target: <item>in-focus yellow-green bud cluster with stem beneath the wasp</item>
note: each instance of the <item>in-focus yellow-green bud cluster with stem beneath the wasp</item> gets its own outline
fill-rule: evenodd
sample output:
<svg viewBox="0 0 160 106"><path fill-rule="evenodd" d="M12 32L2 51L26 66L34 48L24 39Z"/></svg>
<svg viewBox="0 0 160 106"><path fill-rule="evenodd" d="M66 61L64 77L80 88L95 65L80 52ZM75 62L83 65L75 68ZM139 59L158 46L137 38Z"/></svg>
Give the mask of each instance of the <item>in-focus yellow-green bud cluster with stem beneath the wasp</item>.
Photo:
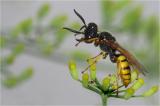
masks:
<svg viewBox="0 0 160 106"><path fill-rule="evenodd" d="M82 83L83 87L91 91L96 92L102 98L102 105L106 106L107 99L110 97L120 98L128 100L132 97L148 97L152 96L158 91L158 86L151 87L148 91L140 95L136 95L135 92L144 85L144 80L138 77L137 70L131 72L131 83L128 87L125 87L120 79L116 75L107 75L102 81L99 81L96 76L96 63L88 61L90 71L82 73L79 78L76 63L74 61L69 62L69 70L74 80ZM92 65L91 65L92 64Z"/></svg>

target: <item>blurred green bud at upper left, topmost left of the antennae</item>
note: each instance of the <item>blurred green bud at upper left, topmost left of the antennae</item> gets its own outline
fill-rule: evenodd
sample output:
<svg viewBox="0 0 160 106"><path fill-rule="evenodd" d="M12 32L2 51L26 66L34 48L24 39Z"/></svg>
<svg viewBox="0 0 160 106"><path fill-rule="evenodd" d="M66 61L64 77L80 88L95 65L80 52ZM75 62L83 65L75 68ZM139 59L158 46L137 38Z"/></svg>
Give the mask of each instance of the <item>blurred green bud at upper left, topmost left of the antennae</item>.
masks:
<svg viewBox="0 0 160 106"><path fill-rule="evenodd" d="M38 13L37 13L38 19L43 19L45 16L47 16L50 11L50 8L51 8L50 4L48 3L43 4L38 10Z"/></svg>

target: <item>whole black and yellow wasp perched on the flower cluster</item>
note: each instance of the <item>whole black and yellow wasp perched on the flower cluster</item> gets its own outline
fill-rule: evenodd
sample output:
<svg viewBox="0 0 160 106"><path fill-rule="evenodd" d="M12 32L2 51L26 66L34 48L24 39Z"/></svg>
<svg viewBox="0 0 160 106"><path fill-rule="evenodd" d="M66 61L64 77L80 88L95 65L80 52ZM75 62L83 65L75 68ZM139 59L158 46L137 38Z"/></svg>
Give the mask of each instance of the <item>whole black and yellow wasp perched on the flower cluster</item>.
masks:
<svg viewBox="0 0 160 106"><path fill-rule="evenodd" d="M67 27L64 27L64 29L75 33L75 36L79 34L84 35L84 37L76 39L78 43L75 46L78 46L81 42L87 44L92 43L95 47L99 47L102 50L100 54L90 59L96 59L99 56L102 56L102 58L105 59L109 55L111 62L117 64L117 74L120 76L125 87L131 82L131 68L136 69L138 70L138 73L145 75L147 72L145 67L129 51L124 49L111 33L105 31L99 32L97 24L91 22L87 25L84 18L75 9L74 13L81 19L84 25L79 30ZM98 59L100 60L100 58ZM93 64L99 60L96 59ZM91 65L89 65L83 72L88 70Z"/></svg>

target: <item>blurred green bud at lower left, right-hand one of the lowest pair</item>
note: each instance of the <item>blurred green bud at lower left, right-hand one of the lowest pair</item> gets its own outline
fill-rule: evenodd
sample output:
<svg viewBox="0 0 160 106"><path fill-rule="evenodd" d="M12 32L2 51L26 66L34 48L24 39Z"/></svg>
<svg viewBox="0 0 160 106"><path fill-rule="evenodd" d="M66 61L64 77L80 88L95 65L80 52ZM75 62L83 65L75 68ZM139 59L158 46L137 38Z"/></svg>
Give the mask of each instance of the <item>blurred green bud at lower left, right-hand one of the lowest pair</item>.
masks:
<svg viewBox="0 0 160 106"><path fill-rule="evenodd" d="M29 79L33 75L33 68L28 67L17 77L18 81L24 81Z"/></svg>

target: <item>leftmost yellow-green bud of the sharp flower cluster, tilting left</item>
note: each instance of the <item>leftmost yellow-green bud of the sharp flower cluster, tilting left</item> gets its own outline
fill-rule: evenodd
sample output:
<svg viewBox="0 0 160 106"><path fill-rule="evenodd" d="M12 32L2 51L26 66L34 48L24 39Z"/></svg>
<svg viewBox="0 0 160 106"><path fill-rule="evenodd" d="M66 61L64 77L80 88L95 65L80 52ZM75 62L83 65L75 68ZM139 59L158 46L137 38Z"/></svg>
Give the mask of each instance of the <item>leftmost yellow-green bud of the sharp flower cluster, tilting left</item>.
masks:
<svg viewBox="0 0 160 106"><path fill-rule="evenodd" d="M71 74L72 78L74 80L78 80L78 71L76 68L76 63L74 61L69 62L69 70L70 70L70 74Z"/></svg>

